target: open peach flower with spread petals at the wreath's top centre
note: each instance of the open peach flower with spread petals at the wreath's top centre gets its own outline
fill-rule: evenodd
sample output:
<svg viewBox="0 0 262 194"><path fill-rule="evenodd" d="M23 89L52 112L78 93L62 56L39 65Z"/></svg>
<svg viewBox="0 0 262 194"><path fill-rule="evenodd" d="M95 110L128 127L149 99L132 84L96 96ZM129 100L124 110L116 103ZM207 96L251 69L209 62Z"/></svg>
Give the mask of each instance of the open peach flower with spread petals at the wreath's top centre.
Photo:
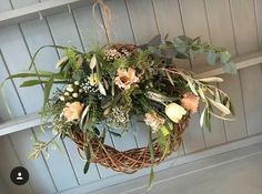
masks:
<svg viewBox="0 0 262 194"><path fill-rule="evenodd" d="M122 88L124 90L130 89L130 85L132 83L137 83L139 81L139 78L135 76L135 70L132 68L129 68L129 70L118 70L118 76L115 78L115 84L119 88Z"/></svg>

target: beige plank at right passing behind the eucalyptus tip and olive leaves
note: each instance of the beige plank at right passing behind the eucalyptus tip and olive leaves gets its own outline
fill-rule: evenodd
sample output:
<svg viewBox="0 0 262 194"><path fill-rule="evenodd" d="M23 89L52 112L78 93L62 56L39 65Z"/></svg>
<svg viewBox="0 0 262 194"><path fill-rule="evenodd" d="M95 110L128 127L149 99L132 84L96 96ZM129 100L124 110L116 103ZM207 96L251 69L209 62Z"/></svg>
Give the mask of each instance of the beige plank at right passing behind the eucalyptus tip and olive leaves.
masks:
<svg viewBox="0 0 262 194"><path fill-rule="evenodd" d="M206 13L212 43L214 45L223 45L232 55L235 55L236 51L229 0L206 0ZM230 95L234 102L236 112L234 122L224 122L226 140L233 141L246 136L240 79L239 74L223 74L221 76L224 79L224 82L220 84L220 88Z"/></svg>

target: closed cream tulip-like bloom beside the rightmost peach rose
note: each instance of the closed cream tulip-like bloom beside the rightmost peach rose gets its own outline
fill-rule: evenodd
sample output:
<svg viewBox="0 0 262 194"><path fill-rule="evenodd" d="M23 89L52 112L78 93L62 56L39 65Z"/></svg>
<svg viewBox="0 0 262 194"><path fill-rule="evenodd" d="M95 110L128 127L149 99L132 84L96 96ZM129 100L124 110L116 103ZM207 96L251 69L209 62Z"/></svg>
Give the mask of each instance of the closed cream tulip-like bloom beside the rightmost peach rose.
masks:
<svg viewBox="0 0 262 194"><path fill-rule="evenodd" d="M165 106L165 114L171 119L174 123L179 123L179 121L187 114L184 108L177 103L170 103Z"/></svg>

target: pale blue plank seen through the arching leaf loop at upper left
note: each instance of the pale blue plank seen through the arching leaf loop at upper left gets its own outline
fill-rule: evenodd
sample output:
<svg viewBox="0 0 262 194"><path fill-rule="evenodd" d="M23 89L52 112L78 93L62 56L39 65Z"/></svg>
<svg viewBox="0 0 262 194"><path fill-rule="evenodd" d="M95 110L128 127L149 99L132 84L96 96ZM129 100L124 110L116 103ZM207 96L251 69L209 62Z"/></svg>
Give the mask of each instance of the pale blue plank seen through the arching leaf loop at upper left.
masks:
<svg viewBox="0 0 262 194"><path fill-rule="evenodd" d="M22 23L21 27L23 29L23 33L31 53L34 53L41 45L53 44L49 29L44 21L33 20ZM53 71L57 60L58 55L56 51L53 49L49 49L41 52L36 62L39 69ZM95 166L91 165L89 171L89 176L88 177L84 176L83 174L84 164L79 157L75 157L77 153L75 146L71 144L69 141L66 141L66 145L79 182L83 184L98 180L99 176ZM68 163L66 159L64 162ZM59 172L52 172L52 173L59 173Z"/></svg>

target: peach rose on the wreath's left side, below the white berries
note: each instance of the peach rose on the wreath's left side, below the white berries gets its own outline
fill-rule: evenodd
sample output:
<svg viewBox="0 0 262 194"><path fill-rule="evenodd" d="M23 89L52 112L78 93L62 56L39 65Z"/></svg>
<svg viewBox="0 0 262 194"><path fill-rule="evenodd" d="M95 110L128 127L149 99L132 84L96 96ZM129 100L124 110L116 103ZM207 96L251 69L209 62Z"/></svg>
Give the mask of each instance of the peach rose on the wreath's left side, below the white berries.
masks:
<svg viewBox="0 0 262 194"><path fill-rule="evenodd" d="M80 102L69 103L67 108L63 109L63 116L68 122L79 120L83 110L83 104Z"/></svg>

